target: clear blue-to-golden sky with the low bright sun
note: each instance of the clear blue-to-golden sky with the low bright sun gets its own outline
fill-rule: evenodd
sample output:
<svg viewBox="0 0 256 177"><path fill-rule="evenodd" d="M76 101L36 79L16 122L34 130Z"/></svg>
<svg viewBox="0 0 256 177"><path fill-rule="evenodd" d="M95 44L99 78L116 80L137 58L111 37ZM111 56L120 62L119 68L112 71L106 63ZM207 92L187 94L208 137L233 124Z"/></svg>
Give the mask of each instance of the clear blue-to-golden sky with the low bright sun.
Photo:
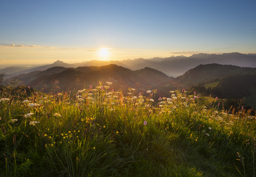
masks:
<svg viewBox="0 0 256 177"><path fill-rule="evenodd" d="M0 2L0 66L256 53L256 1Z"/></svg>

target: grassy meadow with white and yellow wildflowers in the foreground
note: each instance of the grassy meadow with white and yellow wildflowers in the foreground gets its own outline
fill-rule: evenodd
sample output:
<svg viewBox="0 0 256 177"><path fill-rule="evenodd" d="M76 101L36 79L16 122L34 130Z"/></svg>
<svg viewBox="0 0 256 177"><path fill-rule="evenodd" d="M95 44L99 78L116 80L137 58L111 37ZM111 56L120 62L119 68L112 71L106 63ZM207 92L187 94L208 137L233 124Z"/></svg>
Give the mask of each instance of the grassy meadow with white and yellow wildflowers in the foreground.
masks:
<svg viewBox="0 0 256 177"><path fill-rule="evenodd" d="M1 176L255 176L255 115L222 100L100 83L0 89Z"/></svg>

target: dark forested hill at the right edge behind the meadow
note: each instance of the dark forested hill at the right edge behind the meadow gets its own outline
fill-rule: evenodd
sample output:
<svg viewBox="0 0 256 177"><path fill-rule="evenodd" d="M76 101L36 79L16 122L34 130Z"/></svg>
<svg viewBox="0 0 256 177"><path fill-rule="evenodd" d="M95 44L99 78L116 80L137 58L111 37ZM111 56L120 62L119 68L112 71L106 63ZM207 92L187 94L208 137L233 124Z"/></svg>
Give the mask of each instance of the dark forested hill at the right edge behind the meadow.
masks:
<svg viewBox="0 0 256 177"><path fill-rule="evenodd" d="M172 85L186 88L201 95L218 96L227 99L226 109L244 99L250 107L256 108L256 68L231 65L199 65L174 79Z"/></svg>

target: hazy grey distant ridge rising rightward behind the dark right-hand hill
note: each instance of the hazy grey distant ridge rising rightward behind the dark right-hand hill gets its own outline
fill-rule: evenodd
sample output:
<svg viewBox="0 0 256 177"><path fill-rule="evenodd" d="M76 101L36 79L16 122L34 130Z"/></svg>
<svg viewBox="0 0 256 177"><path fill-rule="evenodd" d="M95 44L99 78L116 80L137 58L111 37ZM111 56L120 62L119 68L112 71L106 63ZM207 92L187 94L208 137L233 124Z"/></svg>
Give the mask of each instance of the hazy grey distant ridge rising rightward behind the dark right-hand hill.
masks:
<svg viewBox="0 0 256 177"><path fill-rule="evenodd" d="M130 69L140 69L144 67L154 68L172 77L178 77L189 69L198 65L219 63L221 65L235 65L240 67L256 67L256 55L241 53L224 54L194 54L190 57L170 57L158 60L145 60L137 65L130 66Z"/></svg>

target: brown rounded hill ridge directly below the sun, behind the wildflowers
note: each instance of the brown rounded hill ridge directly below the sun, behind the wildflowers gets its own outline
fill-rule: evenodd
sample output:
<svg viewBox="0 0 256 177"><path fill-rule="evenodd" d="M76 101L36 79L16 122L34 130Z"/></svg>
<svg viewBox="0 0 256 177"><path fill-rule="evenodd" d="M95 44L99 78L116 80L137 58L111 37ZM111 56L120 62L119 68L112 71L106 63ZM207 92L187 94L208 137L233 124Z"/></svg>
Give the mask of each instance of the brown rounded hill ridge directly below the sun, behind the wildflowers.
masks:
<svg viewBox="0 0 256 177"><path fill-rule="evenodd" d="M103 85L112 82L111 88L114 89L134 87L138 90L146 90L148 86L156 87L170 80L170 77L155 69L144 68L132 71L117 65L75 69L54 67L37 73L34 77L31 77L31 74L21 77L21 81L27 85L38 90L44 88L44 91L51 91L54 86L60 87L61 90L84 89L90 85L98 85L99 82Z"/></svg>

